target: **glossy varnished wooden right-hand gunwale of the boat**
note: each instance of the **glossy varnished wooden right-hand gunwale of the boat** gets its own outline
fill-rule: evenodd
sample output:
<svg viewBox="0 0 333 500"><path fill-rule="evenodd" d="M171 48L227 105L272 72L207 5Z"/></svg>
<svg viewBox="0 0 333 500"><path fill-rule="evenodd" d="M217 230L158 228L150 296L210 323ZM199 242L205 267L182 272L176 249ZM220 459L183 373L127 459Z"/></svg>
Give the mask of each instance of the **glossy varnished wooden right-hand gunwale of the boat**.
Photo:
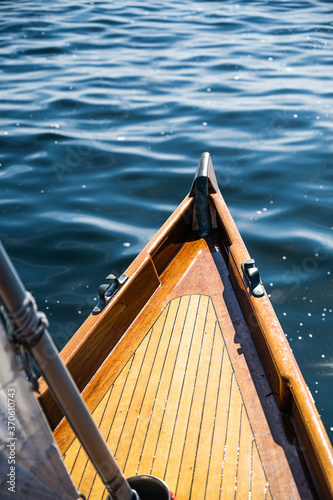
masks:
<svg viewBox="0 0 333 500"><path fill-rule="evenodd" d="M241 264L250 255L223 196L212 193L210 198L218 222L232 242L227 249L229 276L271 386L274 376L269 376L269 370L274 368L278 376L278 386L272 387L277 404L292 419L321 497L333 498L333 448L326 429L266 291L258 298L249 289Z"/></svg>

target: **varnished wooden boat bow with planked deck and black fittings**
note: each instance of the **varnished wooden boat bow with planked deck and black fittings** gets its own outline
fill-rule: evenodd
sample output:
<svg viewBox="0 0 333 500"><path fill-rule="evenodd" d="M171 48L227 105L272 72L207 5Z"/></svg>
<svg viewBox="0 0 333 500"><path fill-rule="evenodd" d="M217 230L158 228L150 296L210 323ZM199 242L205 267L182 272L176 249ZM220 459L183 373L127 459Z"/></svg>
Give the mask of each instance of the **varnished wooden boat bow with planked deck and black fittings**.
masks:
<svg viewBox="0 0 333 500"><path fill-rule="evenodd" d="M333 498L331 443L208 153L125 275L61 353L125 476L178 500ZM40 402L78 490L105 499L43 381Z"/></svg>

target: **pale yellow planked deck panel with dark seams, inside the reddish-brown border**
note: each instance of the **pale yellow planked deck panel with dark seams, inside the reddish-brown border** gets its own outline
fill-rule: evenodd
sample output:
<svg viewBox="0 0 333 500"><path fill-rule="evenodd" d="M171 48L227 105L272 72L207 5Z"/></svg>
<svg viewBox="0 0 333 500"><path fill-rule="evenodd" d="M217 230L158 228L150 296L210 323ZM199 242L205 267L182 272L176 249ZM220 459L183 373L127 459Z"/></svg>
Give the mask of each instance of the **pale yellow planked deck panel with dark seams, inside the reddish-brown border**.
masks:
<svg viewBox="0 0 333 500"><path fill-rule="evenodd" d="M126 476L153 474L179 498L271 498L212 300L172 300L93 415ZM101 483L77 439L65 461L79 490ZM237 482L238 477L247 481Z"/></svg>

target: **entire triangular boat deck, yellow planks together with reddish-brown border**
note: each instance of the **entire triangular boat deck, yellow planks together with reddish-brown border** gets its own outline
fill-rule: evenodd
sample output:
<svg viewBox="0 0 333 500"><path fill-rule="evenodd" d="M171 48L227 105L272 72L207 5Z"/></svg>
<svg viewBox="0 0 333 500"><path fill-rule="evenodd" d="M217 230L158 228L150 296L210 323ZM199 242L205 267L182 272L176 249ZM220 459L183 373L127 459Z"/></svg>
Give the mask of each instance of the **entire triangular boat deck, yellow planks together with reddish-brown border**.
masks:
<svg viewBox="0 0 333 500"><path fill-rule="evenodd" d="M184 244L83 396L125 475L152 473L178 500L313 498L213 257L204 240ZM55 436L78 489L105 498L65 420Z"/></svg>

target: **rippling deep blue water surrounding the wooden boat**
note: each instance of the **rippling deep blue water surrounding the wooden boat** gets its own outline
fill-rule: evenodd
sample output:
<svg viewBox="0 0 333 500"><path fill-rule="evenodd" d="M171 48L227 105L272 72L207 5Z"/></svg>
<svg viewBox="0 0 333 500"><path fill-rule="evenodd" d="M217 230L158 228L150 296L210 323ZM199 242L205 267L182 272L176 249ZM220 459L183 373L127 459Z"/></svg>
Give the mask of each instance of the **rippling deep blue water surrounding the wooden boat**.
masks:
<svg viewBox="0 0 333 500"><path fill-rule="evenodd" d="M0 235L59 348L210 151L333 437L332 20L323 0L2 0Z"/></svg>

